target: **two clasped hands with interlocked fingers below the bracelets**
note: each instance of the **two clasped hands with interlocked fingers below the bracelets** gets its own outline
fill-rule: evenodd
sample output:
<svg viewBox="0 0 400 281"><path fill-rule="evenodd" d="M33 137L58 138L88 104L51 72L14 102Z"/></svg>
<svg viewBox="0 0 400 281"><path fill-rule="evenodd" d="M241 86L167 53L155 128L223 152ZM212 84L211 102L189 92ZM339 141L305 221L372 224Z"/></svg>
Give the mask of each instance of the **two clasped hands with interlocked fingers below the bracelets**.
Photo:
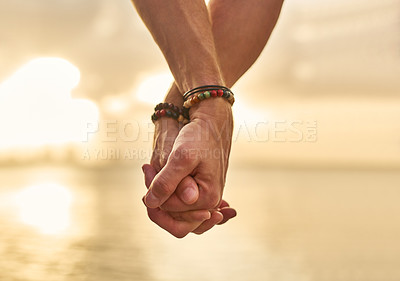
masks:
<svg viewBox="0 0 400 281"><path fill-rule="evenodd" d="M222 200L232 142L230 105L205 100L191 109L190 119L182 128L171 118L156 121L151 162L143 166L148 216L178 238L236 216Z"/></svg>

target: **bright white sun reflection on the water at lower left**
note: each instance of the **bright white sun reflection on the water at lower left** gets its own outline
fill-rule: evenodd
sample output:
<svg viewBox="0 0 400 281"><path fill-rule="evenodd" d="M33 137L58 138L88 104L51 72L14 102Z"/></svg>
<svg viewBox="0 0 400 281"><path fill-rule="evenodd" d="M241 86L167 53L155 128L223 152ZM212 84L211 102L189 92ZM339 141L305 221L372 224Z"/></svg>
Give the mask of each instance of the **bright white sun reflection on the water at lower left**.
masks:
<svg viewBox="0 0 400 281"><path fill-rule="evenodd" d="M71 192L57 184L40 184L16 196L20 219L43 234L57 234L70 223Z"/></svg>

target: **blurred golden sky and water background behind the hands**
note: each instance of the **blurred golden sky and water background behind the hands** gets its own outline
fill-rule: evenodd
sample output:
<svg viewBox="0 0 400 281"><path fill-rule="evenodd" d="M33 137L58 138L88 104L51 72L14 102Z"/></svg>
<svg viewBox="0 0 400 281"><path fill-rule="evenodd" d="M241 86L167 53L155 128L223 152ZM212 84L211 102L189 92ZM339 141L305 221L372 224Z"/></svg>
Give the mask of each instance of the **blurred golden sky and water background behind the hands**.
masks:
<svg viewBox="0 0 400 281"><path fill-rule="evenodd" d="M141 165L172 76L130 1L0 2L0 280L399 280L400 2L285 1L183 240Z"/></svg>

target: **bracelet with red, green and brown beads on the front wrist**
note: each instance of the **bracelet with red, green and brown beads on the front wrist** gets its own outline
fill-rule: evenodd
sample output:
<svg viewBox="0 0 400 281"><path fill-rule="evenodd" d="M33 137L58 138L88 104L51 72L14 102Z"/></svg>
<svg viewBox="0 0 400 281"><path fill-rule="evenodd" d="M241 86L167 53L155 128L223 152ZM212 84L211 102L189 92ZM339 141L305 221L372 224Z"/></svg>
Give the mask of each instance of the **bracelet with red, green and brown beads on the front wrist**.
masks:
<svg viewBox="0 0 400 281"><path fill-rule="evenodd" d="M219 87L219 88L215 88ZM206 90L204 90L206 89ZM199 88L195 88L187 92L186 97L184 97L185 102L183 103L183 114L186 118L188 118L189 115L189 109L195 105L196 103L199 103L202 100L208 99L208 98L215 98L215 97L222 97L227 99L227 101L233 105L235 102L235 98L233 96L233 93L231 90L229 90L226 87L221 87L221 86L202 86Z"/></svg>

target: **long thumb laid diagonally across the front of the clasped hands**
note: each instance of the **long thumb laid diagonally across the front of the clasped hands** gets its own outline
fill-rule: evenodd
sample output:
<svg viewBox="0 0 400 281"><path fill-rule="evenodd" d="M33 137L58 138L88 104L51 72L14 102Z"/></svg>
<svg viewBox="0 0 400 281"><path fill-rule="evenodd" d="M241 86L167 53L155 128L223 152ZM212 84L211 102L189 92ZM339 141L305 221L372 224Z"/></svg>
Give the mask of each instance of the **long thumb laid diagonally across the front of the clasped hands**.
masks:
<svg viewBox="0 0 400 281"><path fill-rule="evenodd" d="M191 163L188 162L190 161L179 161L172 153L170 154L167 164L154 177L146 194L147 207L160 207L175 192L182 179L193 170Z"/></svg>

